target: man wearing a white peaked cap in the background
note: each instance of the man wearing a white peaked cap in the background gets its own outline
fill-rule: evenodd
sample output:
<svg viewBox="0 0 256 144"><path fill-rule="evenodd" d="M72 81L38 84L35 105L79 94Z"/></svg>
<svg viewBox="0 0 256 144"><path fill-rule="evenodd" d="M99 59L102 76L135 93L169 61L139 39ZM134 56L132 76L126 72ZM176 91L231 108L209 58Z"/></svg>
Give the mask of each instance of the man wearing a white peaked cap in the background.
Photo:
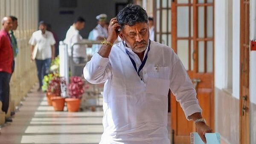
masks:
<svg viewBox="0 0 256 144"><path fill-rule="evenodd" d="M104 40L108 37L108 30L106 29L107 14L99 14L96 16L98 25L91 31L91 37L89 40ZM92 53L98 52L101 44L93 44Z"/></svg>

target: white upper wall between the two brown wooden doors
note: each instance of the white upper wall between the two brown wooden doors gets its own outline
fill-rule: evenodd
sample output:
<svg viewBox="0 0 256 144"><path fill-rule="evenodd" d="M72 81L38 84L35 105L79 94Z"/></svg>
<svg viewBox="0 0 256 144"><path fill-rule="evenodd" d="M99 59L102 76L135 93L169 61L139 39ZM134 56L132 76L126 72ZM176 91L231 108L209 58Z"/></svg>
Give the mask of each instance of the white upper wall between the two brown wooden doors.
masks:
<svg viewBox="0 0 256 144"><path fill-rule="evenodd" d="M215 0L215 87L218 89L227 89L228 85L228 63L227 46L230 46L228 40L232 40L232 95L239 99L239 63L240 63L240 0L231 1L233 5L232 22L228 17L228 4L226 0ZM232 26L232 33L227 31ZM231 35L230 35L231 34ZM232 37L230 39L230 37Z"/></svg>

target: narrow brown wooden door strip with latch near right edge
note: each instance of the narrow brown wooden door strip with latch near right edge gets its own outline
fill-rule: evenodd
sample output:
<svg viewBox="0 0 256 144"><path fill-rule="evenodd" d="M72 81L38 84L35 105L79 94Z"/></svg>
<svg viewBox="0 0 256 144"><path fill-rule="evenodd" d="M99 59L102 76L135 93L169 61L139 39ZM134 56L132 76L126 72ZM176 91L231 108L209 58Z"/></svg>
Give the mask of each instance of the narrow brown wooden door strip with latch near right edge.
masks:
<svg viewBox="0 0 256 144"><path fill-rule="evenodd" d="M250 0L241 0L240 5L240 144L250 144L250 100L249 100L249 60L250 60Z"/></svg>

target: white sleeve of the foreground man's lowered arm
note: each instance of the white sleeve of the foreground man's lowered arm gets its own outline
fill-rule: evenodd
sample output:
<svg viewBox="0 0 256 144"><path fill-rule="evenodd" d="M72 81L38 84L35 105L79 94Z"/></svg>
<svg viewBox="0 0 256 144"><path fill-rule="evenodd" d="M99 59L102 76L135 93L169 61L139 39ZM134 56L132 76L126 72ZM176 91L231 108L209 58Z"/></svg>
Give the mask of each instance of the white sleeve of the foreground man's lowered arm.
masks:
<svg viewBox="0 0 256 144"><path fill-rule="evenodd" d="M202 112L196 98L196 91L181 60L174 53L172 57L172 75L170 89L180 103L186 118L196 112Z"/></svg>

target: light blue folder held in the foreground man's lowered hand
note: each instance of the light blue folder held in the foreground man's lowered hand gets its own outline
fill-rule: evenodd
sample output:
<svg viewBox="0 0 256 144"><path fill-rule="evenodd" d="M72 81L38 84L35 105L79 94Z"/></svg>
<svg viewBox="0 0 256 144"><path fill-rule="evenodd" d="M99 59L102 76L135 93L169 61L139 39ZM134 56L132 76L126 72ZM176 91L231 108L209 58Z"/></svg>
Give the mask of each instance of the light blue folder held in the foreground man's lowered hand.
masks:
<svg viewBox="0 0 256 144"><path fill-rule="evenodd" d="M197 132L191 132L190 138L191 144L204 144ZM207 144L221 144L221 138L219 133L206 133L205 138Z"/></svg>

